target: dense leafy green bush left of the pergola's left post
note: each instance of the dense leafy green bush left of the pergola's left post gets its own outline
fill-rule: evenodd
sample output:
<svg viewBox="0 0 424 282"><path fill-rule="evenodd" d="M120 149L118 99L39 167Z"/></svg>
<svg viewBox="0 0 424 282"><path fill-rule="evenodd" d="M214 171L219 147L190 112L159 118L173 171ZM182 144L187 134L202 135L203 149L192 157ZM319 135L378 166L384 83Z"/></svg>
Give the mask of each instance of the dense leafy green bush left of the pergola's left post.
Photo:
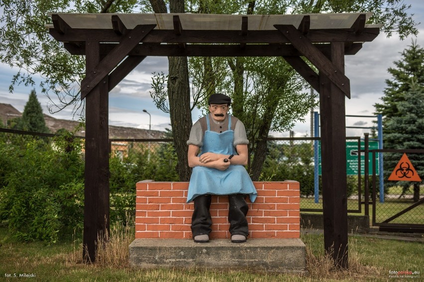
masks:
<svg viewBox="0 0 424 282"><path fill-rule="evenodd" d="M1 162L9 164L0 220L6 220L15 238L55 242L59 234L82 227L84 163L81 150L67 152L64 143L61 137L47 148L40 140L26 143L26 148L0 143Z"/></svg>

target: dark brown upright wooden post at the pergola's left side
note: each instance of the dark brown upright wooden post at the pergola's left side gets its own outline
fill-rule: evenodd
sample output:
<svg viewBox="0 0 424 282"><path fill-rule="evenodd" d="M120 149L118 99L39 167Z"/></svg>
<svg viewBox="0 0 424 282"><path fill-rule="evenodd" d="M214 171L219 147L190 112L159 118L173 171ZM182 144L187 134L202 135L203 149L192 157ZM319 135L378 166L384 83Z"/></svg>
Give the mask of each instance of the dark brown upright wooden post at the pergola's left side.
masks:
<svg viewBox="0 0 424 282"><path fill-rule="evenodd" d="M100 43L86 43L86 74L100 62ZM98 238L109 232L108 75L86 96L83 259L96 261Z"/></svg>

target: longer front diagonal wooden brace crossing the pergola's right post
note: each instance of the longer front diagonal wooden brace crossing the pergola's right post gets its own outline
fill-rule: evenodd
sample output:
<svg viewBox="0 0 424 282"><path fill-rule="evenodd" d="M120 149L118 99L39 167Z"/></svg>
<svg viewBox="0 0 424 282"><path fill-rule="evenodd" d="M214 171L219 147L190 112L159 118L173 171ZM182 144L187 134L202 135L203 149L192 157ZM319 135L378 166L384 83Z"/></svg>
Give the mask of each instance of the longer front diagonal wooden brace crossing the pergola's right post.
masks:
<svg viewBox="0 0 424 282"><path fill-rule="evenodd" d="M331 63L331 61L312 44L311 40L304 36L302 32L297 30L293 25L275 24L274 27L350 99L350 81L349 78L344 75L343 70L340 70Z"/></svg>

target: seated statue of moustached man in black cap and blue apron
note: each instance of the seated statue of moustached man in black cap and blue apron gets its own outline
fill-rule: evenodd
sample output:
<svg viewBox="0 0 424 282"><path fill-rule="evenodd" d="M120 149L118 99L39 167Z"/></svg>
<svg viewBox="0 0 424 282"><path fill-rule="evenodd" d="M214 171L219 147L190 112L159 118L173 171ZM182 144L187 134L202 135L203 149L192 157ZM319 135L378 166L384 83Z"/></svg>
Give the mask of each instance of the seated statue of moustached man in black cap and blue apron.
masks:
<svg viewBox="0 0 424 282"><path fill-rule="evenodd" d="M212 195L228 195L228 221L231 242L246 242L249 207L256 189L244 165L247 164L247 140L243 123L228 114L231 99L221 93L209 97L210 113L192 127L188 162L193 167L187 203L194 201L192 233L197 243L209 242ZM201 153L199 154L199 149Z"/></svg>

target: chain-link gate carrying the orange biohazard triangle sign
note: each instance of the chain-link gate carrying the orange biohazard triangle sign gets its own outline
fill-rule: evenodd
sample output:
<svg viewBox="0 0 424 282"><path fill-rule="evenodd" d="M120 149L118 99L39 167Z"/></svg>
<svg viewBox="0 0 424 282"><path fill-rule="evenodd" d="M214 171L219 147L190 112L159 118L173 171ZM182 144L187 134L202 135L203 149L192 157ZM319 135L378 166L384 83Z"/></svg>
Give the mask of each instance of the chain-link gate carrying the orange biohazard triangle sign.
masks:
<svg viewBox="0 0 424 282"><path fill-rule="evenodd" d="M420 227L423 230L424 150L382 149L371 152L372 159L376 158L378 152L383 153L385 179L382 191L379 189L376 175L371 174L373 224L386 227L409 224L409 228Z"/></svg>

